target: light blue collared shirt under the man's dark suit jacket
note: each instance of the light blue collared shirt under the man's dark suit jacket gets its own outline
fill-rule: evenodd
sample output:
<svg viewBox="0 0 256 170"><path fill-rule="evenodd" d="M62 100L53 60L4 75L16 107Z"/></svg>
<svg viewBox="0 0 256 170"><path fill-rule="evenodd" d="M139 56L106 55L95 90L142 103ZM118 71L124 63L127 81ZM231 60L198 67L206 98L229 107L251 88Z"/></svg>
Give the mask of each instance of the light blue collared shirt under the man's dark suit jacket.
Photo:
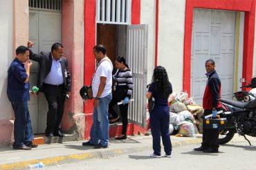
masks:
<svg viewBox="0 0 256 170"><path fill-rule="evenodd" d="M44 83L49 85L62 85L64 83L62 76L62 65L60 64L61 60L62 59L56 61L53 58L51 72L44 79Z"/></svg>

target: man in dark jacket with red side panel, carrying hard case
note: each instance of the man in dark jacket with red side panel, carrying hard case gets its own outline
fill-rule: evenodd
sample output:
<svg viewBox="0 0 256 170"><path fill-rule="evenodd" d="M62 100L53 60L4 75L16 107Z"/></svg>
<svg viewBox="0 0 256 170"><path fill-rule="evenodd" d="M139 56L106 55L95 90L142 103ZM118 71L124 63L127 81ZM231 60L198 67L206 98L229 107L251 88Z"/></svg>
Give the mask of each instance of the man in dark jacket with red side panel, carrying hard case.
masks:
<svg viewBox="0 0 256 170"><path fill-rule="evenodd" d="M215 62L208 60L205 62L205 69L207 71L208 82L205 87L205 94L203 96L204 116L212 114L213 118L221 111L221 81L215 71ZM201 147L194 149L194 151L203 151L205 153L219 152L219 130L205 129L203 126L203 142Z"/></svg>

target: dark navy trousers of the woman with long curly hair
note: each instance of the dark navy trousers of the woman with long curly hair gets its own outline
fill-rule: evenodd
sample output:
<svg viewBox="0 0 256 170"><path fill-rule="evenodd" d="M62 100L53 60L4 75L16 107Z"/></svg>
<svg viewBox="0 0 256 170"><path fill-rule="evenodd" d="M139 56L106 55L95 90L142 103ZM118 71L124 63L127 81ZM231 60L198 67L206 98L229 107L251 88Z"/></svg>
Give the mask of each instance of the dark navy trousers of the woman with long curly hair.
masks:
<svg viewBox="0 0 256 170"><path fill-rule="evenodd" d="M169 133L170 114L165 109L154 107L150 113L150 127L153 138L154 154L161 156L161 136L166 155L172 153L172 142Z"/></svg>

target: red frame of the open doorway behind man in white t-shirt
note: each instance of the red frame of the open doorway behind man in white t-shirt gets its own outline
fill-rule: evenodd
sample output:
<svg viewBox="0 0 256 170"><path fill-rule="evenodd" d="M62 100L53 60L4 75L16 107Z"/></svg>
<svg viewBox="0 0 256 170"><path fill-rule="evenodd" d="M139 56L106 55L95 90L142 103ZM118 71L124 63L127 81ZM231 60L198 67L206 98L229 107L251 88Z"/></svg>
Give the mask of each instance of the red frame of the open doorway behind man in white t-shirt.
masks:
<svg viewBox="0 0 256 170"><path fill-rule="evenodd" d="M84 1L84 85L90 85L95 70L93 47L96 44L96 1ZM140 24L140 0L131 0L131 25ZM85 130L84 138L90 137L93 123L93 101L84 103Z"/></svg>

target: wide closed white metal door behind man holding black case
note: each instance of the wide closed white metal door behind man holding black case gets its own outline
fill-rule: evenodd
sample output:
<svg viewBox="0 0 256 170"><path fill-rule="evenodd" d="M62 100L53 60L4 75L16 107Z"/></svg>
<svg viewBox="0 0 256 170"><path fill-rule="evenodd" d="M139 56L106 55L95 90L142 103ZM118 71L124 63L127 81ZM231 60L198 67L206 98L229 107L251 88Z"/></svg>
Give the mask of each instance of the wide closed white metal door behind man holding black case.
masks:
<svg viewBox="0 0 256 170"><path fill-rule="evenodd" d="M191 54L192 97L201 104L207 78L205 61L213 59L221 78L222 96L233 93L235 12L194 10Z"/></svg>

